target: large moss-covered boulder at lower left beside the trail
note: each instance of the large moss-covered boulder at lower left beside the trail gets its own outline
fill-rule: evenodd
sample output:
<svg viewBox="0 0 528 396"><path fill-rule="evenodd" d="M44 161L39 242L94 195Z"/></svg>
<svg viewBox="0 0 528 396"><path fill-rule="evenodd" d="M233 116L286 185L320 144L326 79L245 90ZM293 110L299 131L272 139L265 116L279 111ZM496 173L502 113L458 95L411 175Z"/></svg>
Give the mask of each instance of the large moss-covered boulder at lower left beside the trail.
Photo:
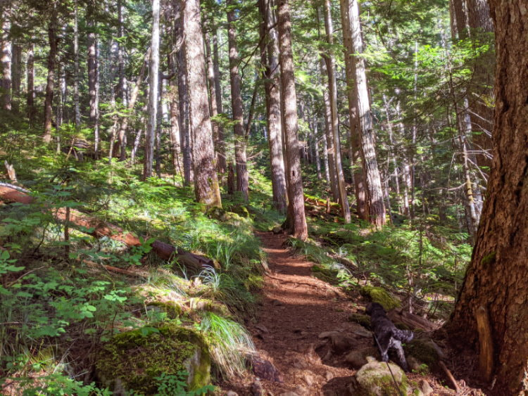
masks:
<svg viewBox="0 0 528 396"><path fill-rule="evenodd" d="M187 371L189 390L210 382L210 355L203 338L170 323L146 336L142 329L114 336L97 353L95 367L99 381L117 395L130 390L153 395L158 390L154 378L161 373Z"/></svg>

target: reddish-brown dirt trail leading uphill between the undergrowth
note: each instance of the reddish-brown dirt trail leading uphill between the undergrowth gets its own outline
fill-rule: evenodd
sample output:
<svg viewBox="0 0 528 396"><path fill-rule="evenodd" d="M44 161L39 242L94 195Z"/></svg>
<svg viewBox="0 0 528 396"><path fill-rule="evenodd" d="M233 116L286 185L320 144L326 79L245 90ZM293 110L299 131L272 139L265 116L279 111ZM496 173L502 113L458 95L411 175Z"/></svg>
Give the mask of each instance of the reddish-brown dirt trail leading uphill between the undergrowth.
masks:
<svg viewBox="0 0 528 396"><path fill-rule="evenodd" d="M348 316L364 313L367 302L312 276L313 263L285 248L285 236L257 236L268 254L270 272L265 276L258 320L249 330L260 357L279 371L279 381L246 378L222 388L238 395L353 395L349 385L356 371L346 355L372 347L372 333L348 321ZM326 332L334 336L327 338ZM408 378L415 383L428 381L434 395L454 395L433 376L408 373Z"/></svg>

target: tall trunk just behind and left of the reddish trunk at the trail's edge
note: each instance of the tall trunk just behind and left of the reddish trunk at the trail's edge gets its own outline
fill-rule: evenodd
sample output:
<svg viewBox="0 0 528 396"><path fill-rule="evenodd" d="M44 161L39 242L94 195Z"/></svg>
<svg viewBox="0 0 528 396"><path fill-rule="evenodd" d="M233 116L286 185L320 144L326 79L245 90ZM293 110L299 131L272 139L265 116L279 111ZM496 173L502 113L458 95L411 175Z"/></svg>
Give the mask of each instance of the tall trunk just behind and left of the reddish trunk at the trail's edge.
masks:
<svg viewBox="0 0 528 396"><path fill-rule="evenodd" d="M263 65L263 79L266 102L268 143L270 146L271 184L273 206L279 212L286 212L287 192L282 153L282 118L280 114L280 75L277 56L277 30L275 15L270 0L258 1L262 22L260 23L260 62Z"/></svg>

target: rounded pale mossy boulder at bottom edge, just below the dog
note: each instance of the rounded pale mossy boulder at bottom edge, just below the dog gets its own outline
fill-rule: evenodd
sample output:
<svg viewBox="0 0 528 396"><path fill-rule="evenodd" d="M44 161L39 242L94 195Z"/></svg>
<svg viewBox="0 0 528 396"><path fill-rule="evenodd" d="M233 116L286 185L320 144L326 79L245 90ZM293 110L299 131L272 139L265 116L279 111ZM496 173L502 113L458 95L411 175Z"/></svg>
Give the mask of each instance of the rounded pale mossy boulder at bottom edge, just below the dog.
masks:
<svg viewBox="0 0 528 396"><path fill-rule="evenodd" d="M370 362L361 367L356 373L358 394L364 396L407 395L410 388L406 374L400 366L394 363L389 363L389 365L392 374L386 362L377 362L375 359L370 359Z"/></svg>

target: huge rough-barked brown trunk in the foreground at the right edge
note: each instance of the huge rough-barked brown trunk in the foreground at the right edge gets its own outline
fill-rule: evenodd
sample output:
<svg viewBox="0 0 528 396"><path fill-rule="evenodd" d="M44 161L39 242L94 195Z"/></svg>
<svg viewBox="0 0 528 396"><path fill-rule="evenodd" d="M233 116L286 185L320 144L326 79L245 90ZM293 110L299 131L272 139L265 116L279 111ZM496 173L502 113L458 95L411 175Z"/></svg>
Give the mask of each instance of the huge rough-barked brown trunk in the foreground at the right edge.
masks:
<svg viewBox="0 0 528 396"><path fill-rule="evenodd" d="M528 46L522 34L528 18L524 1L489 4L497 51L494 160L472 261L448 330L463 345L482 345L476 312L487 311L494 389L520 395L528 392Z"/></svg>

